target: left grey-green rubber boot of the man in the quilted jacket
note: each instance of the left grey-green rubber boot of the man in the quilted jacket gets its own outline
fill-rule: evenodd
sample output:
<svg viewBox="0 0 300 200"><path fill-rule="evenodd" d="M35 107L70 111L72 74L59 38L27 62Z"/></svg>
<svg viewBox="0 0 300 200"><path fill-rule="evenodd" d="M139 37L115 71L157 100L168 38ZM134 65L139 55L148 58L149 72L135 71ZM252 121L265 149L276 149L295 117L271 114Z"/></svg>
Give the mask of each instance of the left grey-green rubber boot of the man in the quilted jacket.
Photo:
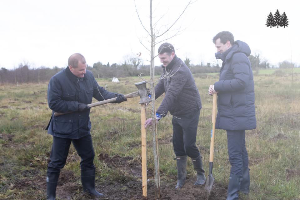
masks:
<svg viewBox="0 0 300 200"><path fill-rule="evenodd" d="M187 156L176 156L177 163L177 184L175 189L180 190L184 184L187 177Z"/></svg>

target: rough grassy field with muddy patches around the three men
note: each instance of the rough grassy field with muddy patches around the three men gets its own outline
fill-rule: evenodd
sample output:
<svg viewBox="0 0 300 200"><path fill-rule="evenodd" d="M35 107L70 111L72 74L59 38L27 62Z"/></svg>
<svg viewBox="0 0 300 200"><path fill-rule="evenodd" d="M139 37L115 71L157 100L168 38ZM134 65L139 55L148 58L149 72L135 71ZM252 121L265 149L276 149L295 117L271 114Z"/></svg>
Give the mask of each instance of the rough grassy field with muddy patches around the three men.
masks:
<svg viewBox="0 0 300 200"><path fill-rule="evenodd" d="M300 68L299 68L300 69ZM260 70L254 77L257 128L246 132L249 153L250 193L242 200L300 200L300 71ZM208 172L212 97L208 86L218 74L195 75L202 99L197 147ZM149 80L149 77L145 77ZM136 91L139 78L98 79L101 86L118 93ZM157 107L162 97L157 100ZM91 109L91 134L97 167L96 186L105 199L141 199L141 142L139 98ZM45 175L52 136L44 128L51 116L47 106L47 83L0 86L0 199L45 199ZM150 114L148 113L148 116ZM150 132L149 132L150 133ZM172 146L171 118L158 123L161 199L206 199L202 186L194 187L195 172L188 160L187 183L173 192L177 171ZM227 138L216 130L213 175L209 199L226 199L230 172ZM152 135L148 134L148 196L153 199ZM57 199L93 199L80 183L80 158L71 145L62 169Z"/></svg>

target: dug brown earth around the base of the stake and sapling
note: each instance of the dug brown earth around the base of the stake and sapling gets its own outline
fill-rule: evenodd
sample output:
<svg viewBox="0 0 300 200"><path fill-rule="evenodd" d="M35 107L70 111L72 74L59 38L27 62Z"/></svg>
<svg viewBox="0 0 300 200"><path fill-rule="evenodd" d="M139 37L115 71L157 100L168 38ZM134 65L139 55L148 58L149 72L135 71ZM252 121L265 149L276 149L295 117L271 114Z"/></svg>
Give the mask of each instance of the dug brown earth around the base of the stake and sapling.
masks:
<svg viewBox="0 0 300 200"><path fill-rule="evenodd" d="M226 188L214 183L210 194L204 189L204 185L195 186L194 178L187 177L187 181L181 190L175 190L176 181L171 184L160 182L160 200L225 200ZM98 184L98 190L107 195L109 200L142 200L142 181L129 181L128 183L103 183ZM154 181L148 182L147 199L155 199Z"/></svg>

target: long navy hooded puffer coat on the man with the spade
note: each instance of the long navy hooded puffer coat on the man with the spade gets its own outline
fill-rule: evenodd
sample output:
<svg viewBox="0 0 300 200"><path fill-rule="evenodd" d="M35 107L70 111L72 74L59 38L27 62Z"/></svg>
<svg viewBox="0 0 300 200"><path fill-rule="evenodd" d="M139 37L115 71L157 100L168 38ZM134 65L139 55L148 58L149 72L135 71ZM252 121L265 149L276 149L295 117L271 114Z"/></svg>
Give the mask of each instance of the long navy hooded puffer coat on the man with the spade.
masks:
<svg viewBox="0 0 300 200"><path fill-rule="evenodd" d="M256 128L254 81L248 56L251 50L237 40L221 54L220 79L214 83L218 93L216 128L251 130Z"/></svg>

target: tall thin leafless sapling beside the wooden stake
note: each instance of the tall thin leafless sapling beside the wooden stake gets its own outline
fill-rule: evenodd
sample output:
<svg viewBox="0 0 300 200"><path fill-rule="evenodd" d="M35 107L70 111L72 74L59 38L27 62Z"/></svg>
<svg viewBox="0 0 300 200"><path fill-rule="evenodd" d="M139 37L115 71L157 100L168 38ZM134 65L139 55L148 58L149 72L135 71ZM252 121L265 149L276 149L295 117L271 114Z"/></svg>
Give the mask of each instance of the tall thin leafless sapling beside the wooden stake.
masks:
<svg viewBox="0 0 300 200"><path fill-rule="evenodd" d="M197 1L197 0L196 0ZM156 27L158 26L158 22L164 17L164 15L162 15L162 17L160 17L158 19L158 21L156 21L155 23L153 23L152 19L153 19L153 11L152 11L152 0L150 0L150 15L149 15L149 20L150 20L150 27L149 29L147 29L140 16L138 13L138 9L136 6L136 2L135 3L135 8L136 8L136 12L138 15L138 19L141 23L141 25L143 26L143 29L147 32L148 36L151 38L150 42L150 48L148 48L148 45L143 44L143 42L140 40L140 43L143 45L143 47L145 47L148 52L150 53L150 82L147 82L150 84L150 93L151 93L151 116L152 116L152 142L153 142L153 158L154 158L154 181L155 181L155 199L160 198L160 175L159 175L159 159L158 159L158 139L157 139L157 123L156 123L156 108L155 108L155 92L154 92L154 86L155 83L157 81L159 81L162 78L167 78L170 76L170 74L167 72L164 76L162 76L159 80L155 81L154 78L154 69L155 69L155 64L154 64L154 59L158 56L158 54L155 53L155 45L157 45L160 42L163 42L165 40L168 40L172 37L175 37L176 35L178 35L179 32L181 32L181 28L179 29L174 29L174 25L176 24L176 22L178 22L179 18L183 15L183 13L186 11L186 9L195 1L192 2L192 0L190 0L186 7L183 9L183 11L181 12L181 14L179 14L179 16L177 18L175 18L174 22L171 25L167 25L166 28L160 32L160 29L156 29ZM173 33L172 36L168 36L165 37L166 33L168 32L173 32L175 31L175 33ZM141 77L141 75L140 75ZM142 77L141 77L142 78ZM143 78L142 78L143 79ZM167 113L163 113L163 114L167 114ZM143 194L144 197L147 197Z"/></svg>

